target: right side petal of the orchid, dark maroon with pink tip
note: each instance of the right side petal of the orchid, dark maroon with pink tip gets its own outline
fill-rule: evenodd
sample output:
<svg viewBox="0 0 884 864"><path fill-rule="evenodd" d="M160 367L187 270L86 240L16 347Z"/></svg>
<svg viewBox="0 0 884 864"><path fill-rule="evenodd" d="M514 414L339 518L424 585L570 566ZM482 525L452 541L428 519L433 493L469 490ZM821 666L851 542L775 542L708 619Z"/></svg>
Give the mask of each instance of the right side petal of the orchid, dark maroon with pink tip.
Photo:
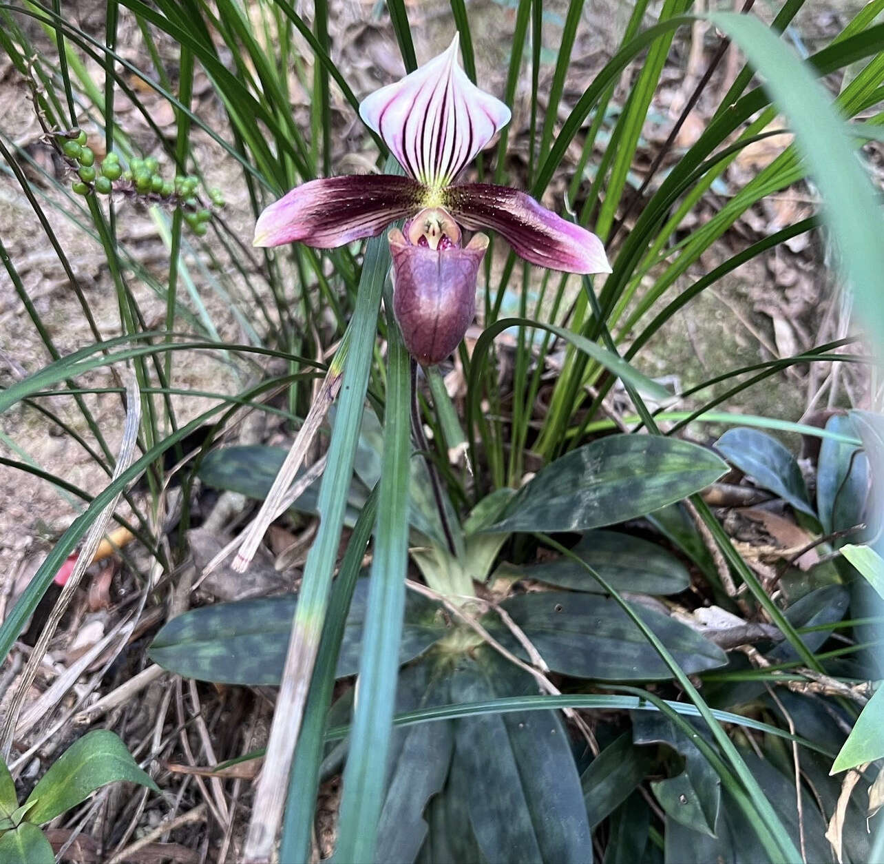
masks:
<svg viewBox="0 0 884 864"><path fill-rule="evenodd" d="M445 191L442 206L468 228L492 228L531 264L569 273L610 273L598 237L506 186L465 183Z"/></svg>

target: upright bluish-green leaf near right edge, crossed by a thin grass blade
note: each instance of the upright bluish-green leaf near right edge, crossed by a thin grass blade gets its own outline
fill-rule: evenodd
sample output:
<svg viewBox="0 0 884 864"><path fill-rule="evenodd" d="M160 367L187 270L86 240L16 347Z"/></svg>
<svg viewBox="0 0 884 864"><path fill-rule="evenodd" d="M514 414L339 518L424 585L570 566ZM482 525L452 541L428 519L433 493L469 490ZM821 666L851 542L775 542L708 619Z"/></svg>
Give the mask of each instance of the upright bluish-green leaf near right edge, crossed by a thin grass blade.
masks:
<svg viewBox="0 0 884 864"><path fill-rule="evenodd" d="M829 417L827 432L856 436L853 420ZM863 521L869 489L869 460L859 447L824 438L817 466L817 511L827 534L844 531ZM842 541L843 542L843 541Z"/></svg>

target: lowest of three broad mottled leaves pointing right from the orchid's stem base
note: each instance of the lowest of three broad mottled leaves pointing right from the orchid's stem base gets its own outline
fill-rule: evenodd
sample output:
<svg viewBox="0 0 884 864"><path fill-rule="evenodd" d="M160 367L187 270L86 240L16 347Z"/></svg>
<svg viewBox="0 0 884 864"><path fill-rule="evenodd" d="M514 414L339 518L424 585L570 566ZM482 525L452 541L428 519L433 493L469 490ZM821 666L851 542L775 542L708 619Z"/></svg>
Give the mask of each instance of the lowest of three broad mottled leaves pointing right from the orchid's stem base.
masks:
<svg viewBox="0 0 884 864"><path fill-rule="evenodd" d="M652 681L672 677L659 654L629 616L608 597L572 592L535 592L505 600L502 608L537 648L550 669L598 681ZM685 624L639 604L636 611L689 673L715 669L727 656ZM511 651L524 649L493 612L483 619Z"/></svg>

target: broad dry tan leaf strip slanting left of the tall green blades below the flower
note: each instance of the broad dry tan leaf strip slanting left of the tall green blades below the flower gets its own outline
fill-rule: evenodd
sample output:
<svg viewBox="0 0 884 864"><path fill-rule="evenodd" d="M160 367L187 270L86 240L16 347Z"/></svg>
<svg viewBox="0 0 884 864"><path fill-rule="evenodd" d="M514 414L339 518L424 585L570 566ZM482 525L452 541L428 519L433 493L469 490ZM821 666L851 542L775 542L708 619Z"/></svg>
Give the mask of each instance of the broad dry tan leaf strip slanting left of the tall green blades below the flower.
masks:
<svg viewBox="0 0 884 864"><path fill-rule="evenodd" d="M335 359L338 360L337 355ZM261 509L258 510L258 515L255 516L246 531L242 532L240 536L240 550L237 552L232 564L233 570L236 570L238 573L246 570L248 563L255 557L255 552L258 551L258 546L261 544L264 533L271 523L278 518L280 506L286 500L289 486L292 486L294 476L298 473L298 469L301 468L304 456L307 455L310 445L313 443L314 438L316 438L316 432L319 432L319 427L323 424L325 415L328 414L328 410L331 408L331 402L338 395L341 383L344 380L342 365L343 357L329 367L323 384L319 388L319 393L316 394L316 399L314 399L313 404L310 406L309 413L304 419L301 429L298 430L292 449L288 451L286 461L282 463L282 467L273 481L271 491L267 493Z"/></svg>

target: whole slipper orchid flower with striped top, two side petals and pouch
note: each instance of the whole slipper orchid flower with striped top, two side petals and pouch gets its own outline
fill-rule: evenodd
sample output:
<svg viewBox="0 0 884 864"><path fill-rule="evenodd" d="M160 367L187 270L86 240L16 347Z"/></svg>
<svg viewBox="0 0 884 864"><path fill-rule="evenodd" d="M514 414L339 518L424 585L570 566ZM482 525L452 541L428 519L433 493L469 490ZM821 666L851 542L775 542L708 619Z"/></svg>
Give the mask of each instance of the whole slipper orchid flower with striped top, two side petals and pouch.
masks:
<svg viewBox="0 0 884 864"><path fill-rule="evenodd" d="M458 37L429 63L360 105L406 175L310 180L271 204L255 226L255 246L301 241L335 248L389 233L393 312L412 356L438 363L473 319L476 278L488 238L463 245L462 228L491 228L531 264L571 273L609 273L595 234L546 210L517 189L455 184L458 174L510 120L507 106L476 87L457 60Z"/></svg>

